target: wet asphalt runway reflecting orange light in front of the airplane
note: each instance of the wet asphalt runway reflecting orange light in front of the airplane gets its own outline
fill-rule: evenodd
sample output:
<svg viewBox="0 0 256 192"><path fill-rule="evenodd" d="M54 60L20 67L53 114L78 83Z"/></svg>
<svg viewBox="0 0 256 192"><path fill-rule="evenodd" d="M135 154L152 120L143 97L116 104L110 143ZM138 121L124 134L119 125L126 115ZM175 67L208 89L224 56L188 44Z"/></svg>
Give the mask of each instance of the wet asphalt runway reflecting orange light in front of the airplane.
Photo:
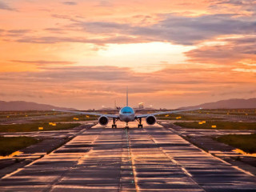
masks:
<svg viewBox="0 0 256 192"><path fill-rule="evenodd" d="M118 123L121 127L122 124ZM1 191L256 191L256 178L160 125L94 126L6 175Z"/></svg>

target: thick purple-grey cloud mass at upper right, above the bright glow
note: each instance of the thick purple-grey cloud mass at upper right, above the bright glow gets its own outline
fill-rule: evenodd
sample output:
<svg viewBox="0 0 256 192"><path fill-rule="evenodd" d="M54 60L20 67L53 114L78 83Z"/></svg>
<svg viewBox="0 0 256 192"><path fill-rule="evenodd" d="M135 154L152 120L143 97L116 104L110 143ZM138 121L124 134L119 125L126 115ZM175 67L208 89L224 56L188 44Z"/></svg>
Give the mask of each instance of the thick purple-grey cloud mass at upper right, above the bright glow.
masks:
<svg viewBox="0 0 256 192"><path fill-rule="evenodd" d="M154 26L141 27L134 34L150 35L162 41L194 45L226 34L253 34L255 22L234 18L233 14L184 17L170 15Z"/></svg>

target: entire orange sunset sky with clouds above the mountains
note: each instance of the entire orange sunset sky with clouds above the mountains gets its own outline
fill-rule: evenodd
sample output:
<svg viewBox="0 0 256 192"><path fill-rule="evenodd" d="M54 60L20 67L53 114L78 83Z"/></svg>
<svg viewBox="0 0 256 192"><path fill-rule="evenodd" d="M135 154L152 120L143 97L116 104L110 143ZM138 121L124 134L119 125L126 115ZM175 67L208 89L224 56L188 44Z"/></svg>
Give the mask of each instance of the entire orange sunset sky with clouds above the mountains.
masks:
<svg viewBox="0 0 256 192"><path fill-rule="evenodd" d="M0 100L175 108L256 97L256 0L0 0Z"/></svg>

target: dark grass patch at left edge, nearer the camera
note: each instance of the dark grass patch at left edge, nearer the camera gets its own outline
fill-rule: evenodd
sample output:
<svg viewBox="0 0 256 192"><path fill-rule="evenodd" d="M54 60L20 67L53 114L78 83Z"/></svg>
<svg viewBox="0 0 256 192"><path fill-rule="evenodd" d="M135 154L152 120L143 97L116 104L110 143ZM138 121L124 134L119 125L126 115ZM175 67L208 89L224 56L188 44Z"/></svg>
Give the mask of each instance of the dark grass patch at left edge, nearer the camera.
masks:
<svg viewBox="0 0 256 192"><path fill-rule="evenodd" d="M14 137L14 138L4 138L0 137L0 155L6 156L14 153L14 151L21 150L26 146L33 145L40 142L36 138L28 137Z"/></svg>

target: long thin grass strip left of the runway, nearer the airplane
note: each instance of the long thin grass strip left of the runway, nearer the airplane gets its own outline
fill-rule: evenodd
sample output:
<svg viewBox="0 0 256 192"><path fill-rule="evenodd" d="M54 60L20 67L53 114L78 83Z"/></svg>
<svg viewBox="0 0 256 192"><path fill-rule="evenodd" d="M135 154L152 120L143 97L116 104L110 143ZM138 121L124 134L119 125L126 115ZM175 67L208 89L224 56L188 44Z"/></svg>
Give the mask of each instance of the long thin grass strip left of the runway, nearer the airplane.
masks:
<svg viewBox="0 0 256 192"><path fill-rule="evenodd" d="M43 127L43 130L68 130L76 126L80 126L80 123L56 123L56 126L49 125L48 122L35 122L26 124L10 124L0 125L0 132L30 132L38 131L38 127ZM43 131L42 130L42 131Z"/></svg>

